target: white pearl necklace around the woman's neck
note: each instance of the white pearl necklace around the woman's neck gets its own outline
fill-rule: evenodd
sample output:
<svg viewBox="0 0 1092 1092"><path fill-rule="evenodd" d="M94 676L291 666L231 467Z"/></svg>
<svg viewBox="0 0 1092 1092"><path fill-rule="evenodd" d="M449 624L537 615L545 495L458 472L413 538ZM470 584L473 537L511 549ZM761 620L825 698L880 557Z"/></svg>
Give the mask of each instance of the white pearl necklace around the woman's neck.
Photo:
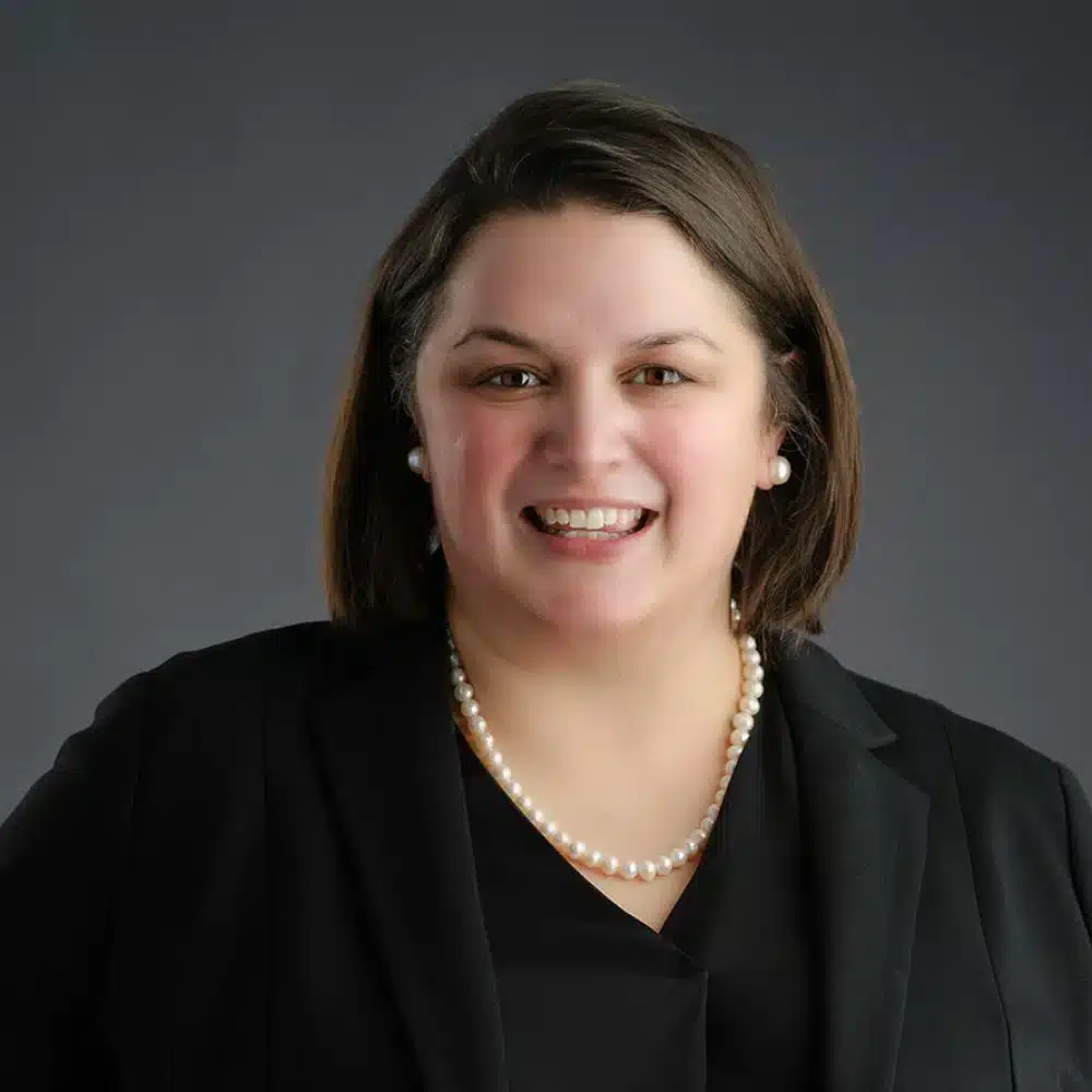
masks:
<svg viewBox="0 0 1092 1092"><path fill-rule="evenodd" d="M739 610L735 600L732 601L732 621L739 620ZM744 747L755 727L755 717L759 711L759 698L762 696L762 661L753 637L738 637L739 657L743 667L743 686L740 688L739 704L735 715L732 717L732 731L728 735L727 756L724 763L724 775L721 778L716 788L716 795L712 805L705 809L705 815L701 822L690 832L681 846L670 850L658 858L649 860L626 860L621 862L615 856L609 856L598 850L593 850L585 843L573 840L553 819L548 819L545 812L535 806L535 802L523 791L523 785L515 780L511 769L505 762L505 756L497 749L496 741L489 733L486 720L482 716L482 709L474 700L474 688L466 677L459 650L455 648L451 629L448 628L448 662L451 668L451 687L455 702L462 713L466 736L482 759L486 769L501 788L511 797L523 814L538 828L538 830L555 845L559 846L573 860L590 868L601 871L604 876L617 876L621 879L632 880L640 877L650 882L660 876L667 876L673 869L679 868L688 860L696 857L708 841L716 817L720 815L724 796L727 793L732 774L735 772L736 763L743 753Z"/></svg>

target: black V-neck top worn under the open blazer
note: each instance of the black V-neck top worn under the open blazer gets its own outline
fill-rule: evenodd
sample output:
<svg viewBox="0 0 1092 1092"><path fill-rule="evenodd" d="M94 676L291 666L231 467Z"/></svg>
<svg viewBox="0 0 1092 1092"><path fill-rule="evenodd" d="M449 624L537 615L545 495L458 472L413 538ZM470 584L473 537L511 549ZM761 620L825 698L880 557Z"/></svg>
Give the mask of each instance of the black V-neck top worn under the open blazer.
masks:
<svg viewBox="0 0 1092 1092"><path fill-rule="evenodd" d="M660 933L587 882L459 734L513 1090L811 1088L796 761L769 673L765 684L704 855Z"/></svg>

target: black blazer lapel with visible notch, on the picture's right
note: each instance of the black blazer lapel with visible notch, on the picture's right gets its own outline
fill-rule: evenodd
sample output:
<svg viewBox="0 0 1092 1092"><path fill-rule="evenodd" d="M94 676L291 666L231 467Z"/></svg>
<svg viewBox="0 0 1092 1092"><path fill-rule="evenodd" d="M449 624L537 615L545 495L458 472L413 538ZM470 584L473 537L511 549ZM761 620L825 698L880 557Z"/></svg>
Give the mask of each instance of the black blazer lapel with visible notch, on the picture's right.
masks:
<svg viewBox="0 0 1092 1092"><path fill-rule="evenodd" d="M793 734L820 951L823 1083L894 1080L927 845L928 797L873 753L894 743L814 642L776 667Z"/></svg>

